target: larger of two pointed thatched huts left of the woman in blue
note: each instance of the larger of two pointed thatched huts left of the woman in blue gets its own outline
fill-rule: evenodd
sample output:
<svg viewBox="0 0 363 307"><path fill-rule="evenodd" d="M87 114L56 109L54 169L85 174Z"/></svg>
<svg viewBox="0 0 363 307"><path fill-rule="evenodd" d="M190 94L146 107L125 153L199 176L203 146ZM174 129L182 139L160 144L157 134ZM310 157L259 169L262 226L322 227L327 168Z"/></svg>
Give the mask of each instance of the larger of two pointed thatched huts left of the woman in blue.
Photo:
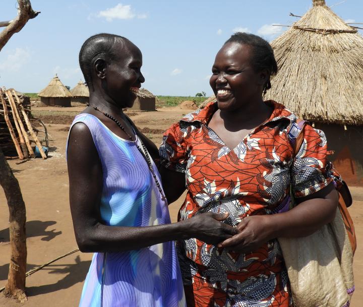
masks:
<svg viewBox="0 0 363 307"><path fill-rule="evenodd" d="M38 94L40 101L49 106L71 106L71 92L63 85L61 80L55 77L48 86Z"/></svg>

